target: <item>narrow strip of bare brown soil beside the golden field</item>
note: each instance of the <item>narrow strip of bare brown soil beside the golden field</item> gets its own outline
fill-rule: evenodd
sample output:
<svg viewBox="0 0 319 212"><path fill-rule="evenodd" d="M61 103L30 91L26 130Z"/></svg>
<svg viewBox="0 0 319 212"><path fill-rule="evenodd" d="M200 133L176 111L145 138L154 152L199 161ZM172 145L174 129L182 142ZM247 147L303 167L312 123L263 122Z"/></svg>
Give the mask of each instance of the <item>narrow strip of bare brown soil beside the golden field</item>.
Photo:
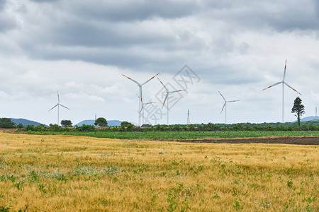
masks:
<svg viewBox="0 0 319 212"><path fill-rule="evenodd" d="M274 136L259 138L236 138L236 139L186 139L175 140L179 142L191 143L286 143L297 145L319 145L319 136Z"/></svg>

